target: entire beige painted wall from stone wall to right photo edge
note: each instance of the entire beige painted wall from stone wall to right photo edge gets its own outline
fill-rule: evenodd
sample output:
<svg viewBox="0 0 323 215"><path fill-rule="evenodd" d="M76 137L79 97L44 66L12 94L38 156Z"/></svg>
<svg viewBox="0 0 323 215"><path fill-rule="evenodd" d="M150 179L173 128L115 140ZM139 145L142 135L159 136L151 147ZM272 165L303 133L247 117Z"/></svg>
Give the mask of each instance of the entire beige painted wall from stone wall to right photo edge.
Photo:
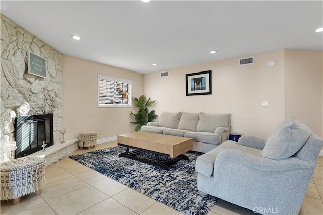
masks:
<svg viewBox="0 0 323 215"><path fill-rule="evenodd" d="M244 57L244 56L242 56ZM248 56L246 56L248 57ZM285 118L296 116L317 135L323 133L322 52L278 50L254 55L255 64L238 66L238 58L138 74L64 56L63 101L66 138L95 130L98 138L133 131L132 108L98 108L97 75L133 80L133 96L157 100L156 113L230 113L231 133L267 137ZM267 62L275 61L274 67ZM212 70L212 95L186 96L185 74ZM268 107L262 107L268 101Z"/></svg>

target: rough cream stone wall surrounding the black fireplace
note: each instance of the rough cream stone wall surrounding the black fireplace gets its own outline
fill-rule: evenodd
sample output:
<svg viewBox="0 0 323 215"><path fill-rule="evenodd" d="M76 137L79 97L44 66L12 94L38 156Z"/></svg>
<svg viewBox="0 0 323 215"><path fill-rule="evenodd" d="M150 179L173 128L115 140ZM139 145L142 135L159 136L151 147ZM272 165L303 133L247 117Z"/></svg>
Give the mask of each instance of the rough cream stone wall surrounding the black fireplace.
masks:
<svg viewBox="0 0 323 215"><path fill-rule="evenodd" d="M1 14L0 131L14 140L18 115L53 113L54 141L63 127L63 55ZM29 51L47 59L46 78L27 73Z"/></svg>

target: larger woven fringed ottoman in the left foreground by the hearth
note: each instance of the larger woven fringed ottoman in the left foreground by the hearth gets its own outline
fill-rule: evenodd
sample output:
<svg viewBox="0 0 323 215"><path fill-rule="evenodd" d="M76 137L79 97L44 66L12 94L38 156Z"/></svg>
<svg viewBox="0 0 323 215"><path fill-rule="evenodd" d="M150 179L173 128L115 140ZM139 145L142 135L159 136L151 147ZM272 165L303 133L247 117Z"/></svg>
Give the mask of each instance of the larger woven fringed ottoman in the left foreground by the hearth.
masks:
<svg viewBox="0 0 323 215"><path fill-rule="evenodd" d="M16 199L45 185L44 158L22 157L0 163L1 200Z"/></svg>

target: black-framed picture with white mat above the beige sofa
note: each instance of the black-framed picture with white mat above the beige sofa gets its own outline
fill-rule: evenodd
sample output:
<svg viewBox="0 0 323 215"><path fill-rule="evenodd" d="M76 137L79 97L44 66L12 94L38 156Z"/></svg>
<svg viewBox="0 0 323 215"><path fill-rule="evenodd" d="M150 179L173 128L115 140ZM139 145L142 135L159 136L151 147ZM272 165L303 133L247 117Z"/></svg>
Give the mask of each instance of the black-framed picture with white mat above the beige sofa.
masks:
<svg viewBox="0 0 323 215"><path fill-rule="evenodd" d="M186 74L186 96L212 94L212 71Z"/></svg>

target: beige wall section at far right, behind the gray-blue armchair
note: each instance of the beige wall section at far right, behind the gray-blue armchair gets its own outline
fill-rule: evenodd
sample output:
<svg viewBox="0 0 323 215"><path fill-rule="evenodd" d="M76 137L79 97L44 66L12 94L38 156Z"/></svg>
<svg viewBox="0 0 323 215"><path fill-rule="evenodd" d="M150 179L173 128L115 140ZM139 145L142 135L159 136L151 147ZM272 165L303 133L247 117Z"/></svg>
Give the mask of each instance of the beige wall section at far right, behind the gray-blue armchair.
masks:
<svg viewBox="0 0 323 215"><path fill-rule="evenodd" d="M285 117L295 116L323 137L321 51L285 50Z"/></svg>

